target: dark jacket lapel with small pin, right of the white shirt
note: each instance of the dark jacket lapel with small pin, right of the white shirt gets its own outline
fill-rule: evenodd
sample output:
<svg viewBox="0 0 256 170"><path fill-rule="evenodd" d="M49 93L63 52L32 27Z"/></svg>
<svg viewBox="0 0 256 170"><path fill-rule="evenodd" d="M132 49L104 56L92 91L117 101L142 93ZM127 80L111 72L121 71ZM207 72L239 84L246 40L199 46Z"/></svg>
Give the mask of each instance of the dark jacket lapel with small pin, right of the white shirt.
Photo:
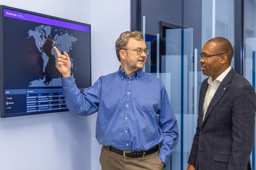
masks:
<svg viewBox="0 0 256 170"><path fill-rule="evenodd" d="M205 117L204 117L204 122L206 121L209 114L212 112L212 109L215 107L215 105L217 105L217 103L220 101L220 99L226 93L227 89L229 88L228 84L231 82L234 74L236 74L236 72L232 68L230 70L230 72L228 72L227 76L222 80L222 82L219 85L217 91L215 92L214 96L212 97L211 102L209 103L209 106L207 108L207 112L206 112ZM204 105L204 101L202 101L202 103ZM202 123L202 125L204 124L204 122Z"/></svg>

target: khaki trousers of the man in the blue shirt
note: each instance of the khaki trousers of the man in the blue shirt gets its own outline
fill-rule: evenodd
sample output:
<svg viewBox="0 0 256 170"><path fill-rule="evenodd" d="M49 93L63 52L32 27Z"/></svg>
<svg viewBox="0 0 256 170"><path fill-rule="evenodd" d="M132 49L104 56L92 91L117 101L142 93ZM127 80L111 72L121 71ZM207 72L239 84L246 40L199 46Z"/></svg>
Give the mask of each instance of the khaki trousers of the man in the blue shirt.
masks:
<svg viewBox="0 0 256 170"><path fill-rule="evenodd" d="M144 158L125 158L114 153L108 147L102 146L99 162L102 170L163 170L158 151Z"/></svg>

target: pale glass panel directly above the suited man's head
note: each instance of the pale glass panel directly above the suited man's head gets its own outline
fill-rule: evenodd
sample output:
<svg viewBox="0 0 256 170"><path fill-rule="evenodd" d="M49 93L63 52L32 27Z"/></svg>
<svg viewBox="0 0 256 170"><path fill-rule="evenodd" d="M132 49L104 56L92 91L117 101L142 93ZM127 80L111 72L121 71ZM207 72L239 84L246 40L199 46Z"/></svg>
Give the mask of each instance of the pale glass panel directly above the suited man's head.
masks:
<svg viewBox="0 0 256 170"><path fill-rule="evenodd" d="M234 0L202 0L202 47L212 38L224 37L234 48L233 7ZM233 68L234 57L231 62Z"/></svg>

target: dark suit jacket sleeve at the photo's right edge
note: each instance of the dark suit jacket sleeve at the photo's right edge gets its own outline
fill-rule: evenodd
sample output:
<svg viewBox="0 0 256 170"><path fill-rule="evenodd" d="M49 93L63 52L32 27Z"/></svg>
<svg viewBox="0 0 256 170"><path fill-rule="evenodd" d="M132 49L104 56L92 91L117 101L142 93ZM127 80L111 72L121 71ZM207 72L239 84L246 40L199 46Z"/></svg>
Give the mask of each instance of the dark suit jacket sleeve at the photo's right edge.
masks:
<svg viewBox="0 0 256 170"><path fill-rule="evenodd" d="M233 144L228 170L245 170L253 147L256 95L251 85L239 88L233 102Z"/></svg>

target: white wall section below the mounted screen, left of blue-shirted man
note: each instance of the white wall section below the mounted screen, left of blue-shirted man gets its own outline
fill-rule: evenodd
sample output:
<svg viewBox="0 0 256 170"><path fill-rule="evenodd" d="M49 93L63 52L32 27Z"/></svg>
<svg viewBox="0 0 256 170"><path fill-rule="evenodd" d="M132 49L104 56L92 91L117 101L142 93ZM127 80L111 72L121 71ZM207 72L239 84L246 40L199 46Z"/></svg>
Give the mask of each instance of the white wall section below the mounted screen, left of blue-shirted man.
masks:
<svg viewBox="0 0 256 170"><path fill-rule="evenodd" d="M1 170L90 167L90 121L68 112L0 119Z"/></svg>

